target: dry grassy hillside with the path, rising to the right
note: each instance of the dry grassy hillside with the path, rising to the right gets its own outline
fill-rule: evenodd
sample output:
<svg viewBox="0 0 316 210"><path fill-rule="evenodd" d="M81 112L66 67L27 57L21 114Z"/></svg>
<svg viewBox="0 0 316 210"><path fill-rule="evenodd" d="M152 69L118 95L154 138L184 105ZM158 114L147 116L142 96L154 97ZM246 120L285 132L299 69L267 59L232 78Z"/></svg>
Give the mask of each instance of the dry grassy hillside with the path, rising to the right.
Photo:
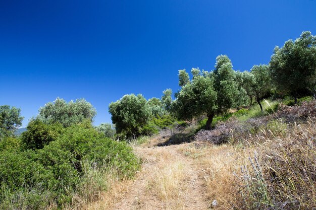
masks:
<svg viewBox="0 0 316 210"><path fill-rule="evenodd" d="M313 209L315 106L281 106L242 123L233 117L208 131L228 127L220 145L198 133L190 143L163 146L172 137L165 135L134 142L143 161L135 180L113 183L84 209Z"/></svg>

